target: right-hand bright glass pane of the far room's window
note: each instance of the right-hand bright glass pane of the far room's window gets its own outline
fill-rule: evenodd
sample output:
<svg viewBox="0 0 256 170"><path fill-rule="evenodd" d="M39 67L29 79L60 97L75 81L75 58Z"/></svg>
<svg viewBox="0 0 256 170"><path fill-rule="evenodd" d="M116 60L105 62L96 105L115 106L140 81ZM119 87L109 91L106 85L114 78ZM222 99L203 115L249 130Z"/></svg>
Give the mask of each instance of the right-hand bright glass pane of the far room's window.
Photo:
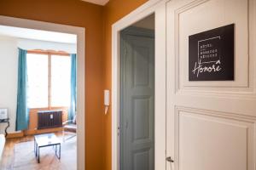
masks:
<svg viewBox="0 0 256 170"><path fill-rule="evenodd" d="M51 56L51 106L70 105L71 58Z"/></svg>

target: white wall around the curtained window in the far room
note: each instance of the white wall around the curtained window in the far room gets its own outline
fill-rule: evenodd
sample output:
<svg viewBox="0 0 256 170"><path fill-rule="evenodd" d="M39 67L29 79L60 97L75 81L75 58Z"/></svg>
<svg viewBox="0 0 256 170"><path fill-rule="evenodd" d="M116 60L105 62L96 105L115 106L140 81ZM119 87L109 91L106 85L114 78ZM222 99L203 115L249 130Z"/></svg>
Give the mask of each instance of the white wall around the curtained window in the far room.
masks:
<svg viewBox="0 0 256 170"><path fill-rule="evenodd" d="M44 42L0 35L0 108L9 109L9 133L15 132L17 79L18 79L18 48L52 49L77 52L77 45L72 43ZM4 133L7 124L0 123L0 133Z"/></svg>

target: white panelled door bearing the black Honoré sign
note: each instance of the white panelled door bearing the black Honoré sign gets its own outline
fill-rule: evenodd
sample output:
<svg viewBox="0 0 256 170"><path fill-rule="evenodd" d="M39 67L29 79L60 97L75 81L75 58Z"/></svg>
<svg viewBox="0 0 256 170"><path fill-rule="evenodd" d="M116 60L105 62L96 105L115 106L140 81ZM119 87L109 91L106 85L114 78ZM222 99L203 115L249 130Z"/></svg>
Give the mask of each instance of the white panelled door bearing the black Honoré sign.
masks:
<svg viewBox="0 0 256 170"><path fill-rule="evenodd" d="M255 169L256 1L166 4L167 169ZM235 24L235 80L189 82L189 36Z"/></svg>

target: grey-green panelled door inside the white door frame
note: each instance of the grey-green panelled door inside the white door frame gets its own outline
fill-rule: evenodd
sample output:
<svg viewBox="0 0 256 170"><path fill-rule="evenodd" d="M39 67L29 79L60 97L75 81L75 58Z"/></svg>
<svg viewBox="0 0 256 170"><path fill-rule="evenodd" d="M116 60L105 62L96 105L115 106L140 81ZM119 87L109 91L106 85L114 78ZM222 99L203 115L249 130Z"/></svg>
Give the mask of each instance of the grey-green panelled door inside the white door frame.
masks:
<svg viewBox="0 0 256 170"><path fill-rule="evenodd" d="M154 170L154 31L121 33L120 170Z"/></svg>

